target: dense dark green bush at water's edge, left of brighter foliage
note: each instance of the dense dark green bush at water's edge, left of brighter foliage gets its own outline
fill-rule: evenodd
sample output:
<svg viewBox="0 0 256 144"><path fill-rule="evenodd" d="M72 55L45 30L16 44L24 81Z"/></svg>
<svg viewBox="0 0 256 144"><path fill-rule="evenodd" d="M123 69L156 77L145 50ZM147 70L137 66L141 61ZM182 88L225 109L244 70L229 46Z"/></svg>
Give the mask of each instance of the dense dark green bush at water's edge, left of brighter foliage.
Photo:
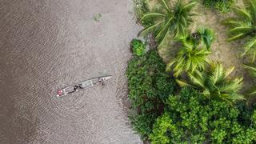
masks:
<svg viewBox="0 0 256 144"><path fill-rule="evenodd" d="M152 50L128 63L128 97L132 109L137 111L130 115L130 120L144 139L151 133L156 118L162 114L166 98L174 92L174 81L165 69L162 58Z"/></svg>

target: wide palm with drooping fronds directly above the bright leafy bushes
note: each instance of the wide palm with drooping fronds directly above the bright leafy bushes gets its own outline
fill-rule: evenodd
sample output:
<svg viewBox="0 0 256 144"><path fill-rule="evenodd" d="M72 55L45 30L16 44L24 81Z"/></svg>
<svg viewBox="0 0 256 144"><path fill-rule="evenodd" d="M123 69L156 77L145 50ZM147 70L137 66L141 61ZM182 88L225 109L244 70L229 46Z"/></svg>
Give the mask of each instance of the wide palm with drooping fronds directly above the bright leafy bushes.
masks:
<svg viewBox="0 0 256 144"><path fill-rule="evenodd" d="M242 100L244 97L238 93L242 88L242 78L228 78L230 73L234 70L224 70L219 63L211 63L209 69L194 73L188 73L190 84L182 80L177 82L180 86L192 86L202 91L208 98L220 98L226 102L235 102Z"/></svg>

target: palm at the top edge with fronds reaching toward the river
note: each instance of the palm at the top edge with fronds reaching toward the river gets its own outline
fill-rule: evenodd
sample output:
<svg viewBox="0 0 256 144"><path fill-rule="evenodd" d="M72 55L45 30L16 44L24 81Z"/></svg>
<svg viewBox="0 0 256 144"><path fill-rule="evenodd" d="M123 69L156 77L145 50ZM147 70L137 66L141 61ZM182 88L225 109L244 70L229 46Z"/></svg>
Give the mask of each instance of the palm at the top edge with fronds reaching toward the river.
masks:
<svg viewBox="0 0 256 144"><path fill-rule="evenodd" d="M174 38L186 33L187 26L192 21L192 8L197 2L189 2L183 4L182 0L175 2L174 6L170 8L165 0L162 1L163 9L145 14L141 20L146 18L154 18L154 25L146 27L139 34L145 34L150 31L154 32L155 38L158 40L158 46L162 46L168 34L174 33Z"/></svg>

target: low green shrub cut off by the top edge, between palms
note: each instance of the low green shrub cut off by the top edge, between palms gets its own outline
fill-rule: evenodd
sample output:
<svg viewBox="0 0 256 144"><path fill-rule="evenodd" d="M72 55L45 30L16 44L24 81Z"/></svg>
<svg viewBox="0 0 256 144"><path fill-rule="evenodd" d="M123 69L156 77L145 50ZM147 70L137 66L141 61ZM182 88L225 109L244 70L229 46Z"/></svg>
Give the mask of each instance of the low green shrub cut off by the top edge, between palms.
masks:
<svg viewBox="0 0 256 144"><path fill-rule="evenodd" d="M203 0L203 3L207 7L214 8L222 13L229 12L234 0Z"/></svg>

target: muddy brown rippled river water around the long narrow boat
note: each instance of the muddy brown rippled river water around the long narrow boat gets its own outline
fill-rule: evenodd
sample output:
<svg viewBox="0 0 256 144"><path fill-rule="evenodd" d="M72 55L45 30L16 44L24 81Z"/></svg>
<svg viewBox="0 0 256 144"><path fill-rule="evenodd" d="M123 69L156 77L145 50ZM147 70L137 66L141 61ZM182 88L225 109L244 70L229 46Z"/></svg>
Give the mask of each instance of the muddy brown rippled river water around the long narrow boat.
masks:
<svg viewBox="0 0 256 144"><path fill-rule="evenodd" d="M0 0L0 143L141 143L126 112L131 0ZM56 98L56 90L112 74Z"/></svg>

